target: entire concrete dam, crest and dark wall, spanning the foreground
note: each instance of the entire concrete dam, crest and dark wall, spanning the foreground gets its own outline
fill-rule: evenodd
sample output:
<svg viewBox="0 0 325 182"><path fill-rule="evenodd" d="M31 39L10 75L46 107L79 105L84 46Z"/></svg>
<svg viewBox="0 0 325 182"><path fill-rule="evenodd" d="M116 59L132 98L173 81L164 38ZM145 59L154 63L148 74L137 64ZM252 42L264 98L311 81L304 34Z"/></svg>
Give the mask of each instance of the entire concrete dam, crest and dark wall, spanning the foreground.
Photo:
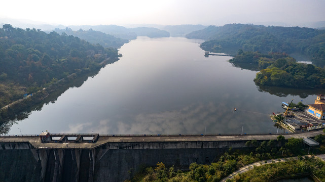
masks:
<svg viewBox="0 0 325 182"><path fill-rule="evenodd" d="M307 138L322 130L286 133ZM183 169L209 164L250 140L276 140L277 134L101 135L44 132L0 136L0 181L124 181L146 166L163 162Z"/></svg>

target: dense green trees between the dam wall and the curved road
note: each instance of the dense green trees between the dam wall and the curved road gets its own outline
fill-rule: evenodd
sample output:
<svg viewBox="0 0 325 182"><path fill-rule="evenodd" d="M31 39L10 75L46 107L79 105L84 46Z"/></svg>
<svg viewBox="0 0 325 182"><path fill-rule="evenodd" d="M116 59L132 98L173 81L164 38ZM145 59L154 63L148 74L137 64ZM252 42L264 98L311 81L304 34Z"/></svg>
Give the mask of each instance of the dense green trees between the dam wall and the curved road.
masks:
<svg viewBox="0 0 325 182"><path fill-rule="evenodd" d="M192 163L189 166L188 172L182 172L179 170L175 172L174 166L166 168L163 163L158 163L155 169L149 167L147 169L141 170L132 178L132 181L220 181L222 178L231 174L236 169L247 164L266 159L278 158L282 155L284 157L292 156L295 154L305 154L305 152L302 150L302 139L292 138L285 142L283 135L279 135L276 141L247 141L246 146L249 147L249 150L236 151L229 149L210 165ZM299 159L303 160L303 158ZM300 164L306 164L310 166L313 164L313 162L319 164L318 167L312 168L316 171L315 174L322 176L321 171L320 173L318 171L321 169L321 166L324 166L324 163L318 163L318 160L306 158L306 161L304 160L304 162L300 162ZM282 166L286 164L284 163L279 165ZM293 174L296 171L310 172L309 169L294 166L292 170L275 173L268 171L268 174L271 175L272 179L280 175ZM241 177L240 179L242 180L244 178L245 177ZM238 177L235 178L235 180L241 181Z"/></svg>

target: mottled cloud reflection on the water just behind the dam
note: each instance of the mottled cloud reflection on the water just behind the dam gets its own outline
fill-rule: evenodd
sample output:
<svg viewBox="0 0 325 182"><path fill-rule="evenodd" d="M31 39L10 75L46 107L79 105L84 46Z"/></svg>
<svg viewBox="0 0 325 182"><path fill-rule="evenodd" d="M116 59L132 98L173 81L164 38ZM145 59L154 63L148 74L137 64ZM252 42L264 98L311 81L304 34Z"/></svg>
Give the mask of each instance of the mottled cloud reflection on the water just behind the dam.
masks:
<svg viewBox="0 0 325 182"><path fill-rule="evenodd" d="M216 105L208 102L191 104L179 110L136 114L131 120L119 120L117 123L102 120L94 130L102 134L200 134L206 128L206 133L240 133L244 126L246 131L261 131L258 123L233 124L238 123L236 120L241 117L250 118L254 122L259 117L265 118L265 114L233 111L233 108L227 108L224 103ZM82 129L80 125L77 128Z"/></svg>

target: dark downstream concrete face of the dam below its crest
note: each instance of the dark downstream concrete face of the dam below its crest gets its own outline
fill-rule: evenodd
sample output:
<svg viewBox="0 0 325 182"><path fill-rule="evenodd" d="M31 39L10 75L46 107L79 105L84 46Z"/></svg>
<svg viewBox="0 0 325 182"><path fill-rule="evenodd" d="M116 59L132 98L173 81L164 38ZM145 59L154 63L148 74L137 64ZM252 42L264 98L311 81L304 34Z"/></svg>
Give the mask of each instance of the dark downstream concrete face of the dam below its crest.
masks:
<svg viewBox="0 0 325 182"><path fill-rule="evenodd" d="M193 143L116 143L96 149L33 149L28 143L6 143L0 150L0 181L124 181L141 166L163 162L187 168L193 162L209 164L224 151L213 148L221 142Z"/></svg>

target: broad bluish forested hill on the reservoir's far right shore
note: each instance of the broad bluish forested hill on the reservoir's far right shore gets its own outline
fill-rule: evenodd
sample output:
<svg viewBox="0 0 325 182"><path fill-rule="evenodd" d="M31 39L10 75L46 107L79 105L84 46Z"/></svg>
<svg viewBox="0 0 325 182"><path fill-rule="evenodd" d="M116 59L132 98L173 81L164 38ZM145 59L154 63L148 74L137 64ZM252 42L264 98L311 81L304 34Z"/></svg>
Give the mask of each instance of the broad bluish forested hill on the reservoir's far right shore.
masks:
<svg viewBox="0 0 325 182"><path fill-rule="evenodd" d="M277 27L251 24L209 26L186 35L206 41L201 48L211 52L298 53L325 62L325 30L301 27Z"/></svg>

